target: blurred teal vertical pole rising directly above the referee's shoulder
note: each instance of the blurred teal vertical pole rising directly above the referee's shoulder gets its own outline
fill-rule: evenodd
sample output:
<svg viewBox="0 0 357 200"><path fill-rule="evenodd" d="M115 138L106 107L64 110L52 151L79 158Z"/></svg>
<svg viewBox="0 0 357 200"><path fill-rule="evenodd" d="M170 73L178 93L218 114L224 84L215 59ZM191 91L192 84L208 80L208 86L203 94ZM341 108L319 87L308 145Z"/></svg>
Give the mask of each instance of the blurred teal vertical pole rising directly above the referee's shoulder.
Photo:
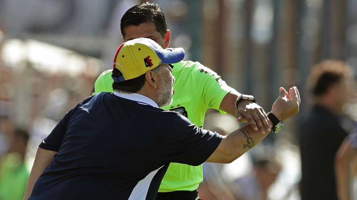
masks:
<svg viewBox="0 0 357 200"><path fill-rule="evenodd" d="M192 61L199 61L201 58L201 16L202 16L202 1L187 1L190 11L188 12L188 27L192 39L191 45L191 59Z"/></svg>

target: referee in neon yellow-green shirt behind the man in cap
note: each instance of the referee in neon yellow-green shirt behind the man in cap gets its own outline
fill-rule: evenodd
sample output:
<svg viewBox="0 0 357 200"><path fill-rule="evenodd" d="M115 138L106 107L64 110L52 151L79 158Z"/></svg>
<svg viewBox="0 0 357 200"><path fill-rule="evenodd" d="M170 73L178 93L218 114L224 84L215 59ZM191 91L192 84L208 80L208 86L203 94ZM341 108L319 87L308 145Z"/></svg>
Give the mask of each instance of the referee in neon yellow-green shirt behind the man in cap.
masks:
<svg viewBox="0 0 357 200"><path fill-rule="evenodd" d="M150 38L162 48L170 43L170 30L167 29L164 13L157 4L144 3L131 7L125 12L120 23L124 41L135 38ZM172 64L174 100L162 109L180 112L193 124L203 127L208 108L226 112L237 117L238 121L247 119L254 130L270 131L272 123L264 110L255 103L252 96L241 95L228 86L214 71L199 62L181 61ZM96 80L92 95L99 92L113 92L112 70L104 71ZM248 99L248 100L247 100ZM202 165L190 166L171 163L162 179L157 200L197 200L197 187L203 181Z"/></svg>

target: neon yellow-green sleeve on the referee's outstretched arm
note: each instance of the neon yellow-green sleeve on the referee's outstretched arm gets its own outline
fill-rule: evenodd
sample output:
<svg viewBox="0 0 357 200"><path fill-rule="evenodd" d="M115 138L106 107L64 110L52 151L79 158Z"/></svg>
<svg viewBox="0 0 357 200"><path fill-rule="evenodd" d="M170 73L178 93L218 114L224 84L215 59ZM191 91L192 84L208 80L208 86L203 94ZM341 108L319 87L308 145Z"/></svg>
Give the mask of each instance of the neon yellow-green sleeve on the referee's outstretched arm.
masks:
<svg viewBox="0 0 357 200"><path fill-rule="evenodd" d="M233 91L234 89L228 86L216 72L203 65L198 65L193 74L195 75L196 85L202 87L202 97L207 108L220 110L223 98L228 92ZM222 114L226 113L223 111L221 112Z"/></svg>

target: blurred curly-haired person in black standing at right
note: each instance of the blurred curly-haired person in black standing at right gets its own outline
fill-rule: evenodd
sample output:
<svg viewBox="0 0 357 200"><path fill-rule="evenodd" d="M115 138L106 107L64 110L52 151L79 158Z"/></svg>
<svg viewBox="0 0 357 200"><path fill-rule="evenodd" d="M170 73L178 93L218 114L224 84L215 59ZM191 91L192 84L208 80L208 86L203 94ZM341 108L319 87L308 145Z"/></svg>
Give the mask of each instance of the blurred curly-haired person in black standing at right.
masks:
<svg viewBox="0 0 357 200"><path fill-rule="evenodd" d="M325 60L309 77L313 107L300 126L301 199L337 199L334 158L352 126L343 112L348 101L350 67L345 62Z"/></svg>

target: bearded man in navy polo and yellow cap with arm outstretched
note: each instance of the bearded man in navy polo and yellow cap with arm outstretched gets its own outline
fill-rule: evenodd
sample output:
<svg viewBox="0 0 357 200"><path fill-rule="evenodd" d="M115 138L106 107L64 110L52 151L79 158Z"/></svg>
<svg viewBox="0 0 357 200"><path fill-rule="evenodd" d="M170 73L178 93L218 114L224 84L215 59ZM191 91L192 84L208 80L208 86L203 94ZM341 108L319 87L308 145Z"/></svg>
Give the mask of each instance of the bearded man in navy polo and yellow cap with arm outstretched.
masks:
<svg viewBox="0 0 357 200"><path fill-rule="evenodd" d="M146 38L123 43L116 92L87 97L41 142L24 199L155 199L170 162L232 162L260 142L267 134L249 125L223 137L159 108L174 94L168 64L183 56ZM296 87L289 91L280 88L269 115L280 127L300 105Z"/></svg>

